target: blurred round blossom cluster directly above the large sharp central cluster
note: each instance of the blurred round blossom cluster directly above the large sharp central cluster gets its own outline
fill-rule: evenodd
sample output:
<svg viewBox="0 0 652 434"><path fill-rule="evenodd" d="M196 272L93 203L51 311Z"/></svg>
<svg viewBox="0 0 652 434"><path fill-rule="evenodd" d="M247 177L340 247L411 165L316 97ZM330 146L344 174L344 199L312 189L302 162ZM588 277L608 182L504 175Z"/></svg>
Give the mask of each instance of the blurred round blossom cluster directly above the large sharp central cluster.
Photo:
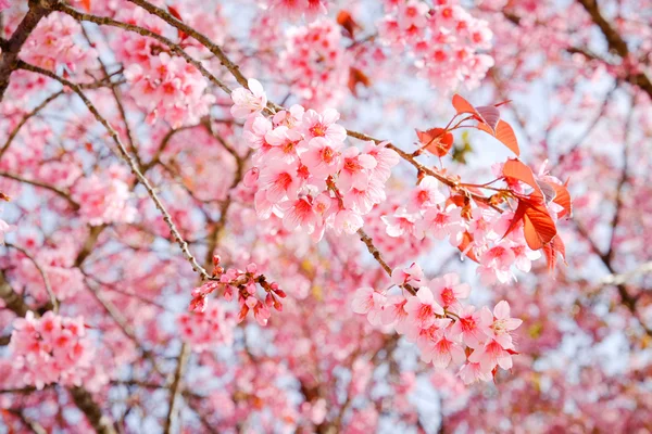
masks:
<svg viewBox="0 0 652 434"><path fill-rule="evenodd" d="M331 20L289 30L278 65L292 85L292 94L312 107L334 106L348 92L351 59Z"/></svg>

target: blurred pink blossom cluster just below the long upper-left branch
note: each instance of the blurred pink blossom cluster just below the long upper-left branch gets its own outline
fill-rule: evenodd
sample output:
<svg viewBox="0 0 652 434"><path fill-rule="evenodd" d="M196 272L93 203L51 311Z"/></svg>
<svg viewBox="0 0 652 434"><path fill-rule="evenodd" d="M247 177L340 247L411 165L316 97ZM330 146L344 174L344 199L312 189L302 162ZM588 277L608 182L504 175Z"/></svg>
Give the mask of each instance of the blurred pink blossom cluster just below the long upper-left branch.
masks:
<svg viewBox="0 0 652 434"><path fill-rule="evenodd" d="M148 111L150 123L161 117L173 128L197 124L215 101L214 95L204 93L208 84L201 73L184 59L166 52L129 65L125 77L130 95Z"/></svg>

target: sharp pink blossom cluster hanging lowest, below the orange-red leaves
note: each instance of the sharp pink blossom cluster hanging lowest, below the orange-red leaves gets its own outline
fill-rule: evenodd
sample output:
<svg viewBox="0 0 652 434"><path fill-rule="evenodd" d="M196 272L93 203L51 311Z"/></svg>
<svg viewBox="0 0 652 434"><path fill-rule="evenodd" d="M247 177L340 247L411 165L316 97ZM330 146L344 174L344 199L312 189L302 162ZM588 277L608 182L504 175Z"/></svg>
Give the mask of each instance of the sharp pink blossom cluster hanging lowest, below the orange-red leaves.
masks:
<svg viewBox="0 0 652 434"><path fill-rule="evenodd" d="M353 298L353 311L366 315L374 326L392 327L415 342L422 360L436 368L462 365L459 375L465 383L490 381L497 367L512 368L516 354L511 332L523 322L510 317L510 305L500 302L491 312L463 305L471 288L455 273L426 280L412 265L392 272L392 283L409 288L415 295L389 295L361 288Z"/></svg>

